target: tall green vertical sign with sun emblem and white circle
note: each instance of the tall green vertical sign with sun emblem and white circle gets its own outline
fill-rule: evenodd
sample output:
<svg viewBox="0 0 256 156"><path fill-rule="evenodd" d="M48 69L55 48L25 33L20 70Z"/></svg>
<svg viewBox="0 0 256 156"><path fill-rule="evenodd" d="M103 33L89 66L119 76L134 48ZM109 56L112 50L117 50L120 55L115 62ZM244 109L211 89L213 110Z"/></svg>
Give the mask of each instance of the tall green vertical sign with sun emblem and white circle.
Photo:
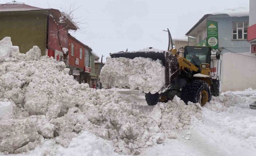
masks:
<svg viewBox="0 0 256 156"><path fill-rule="evenodd" d="M207 46L218 49L218 22L207 20Z"/></svg>

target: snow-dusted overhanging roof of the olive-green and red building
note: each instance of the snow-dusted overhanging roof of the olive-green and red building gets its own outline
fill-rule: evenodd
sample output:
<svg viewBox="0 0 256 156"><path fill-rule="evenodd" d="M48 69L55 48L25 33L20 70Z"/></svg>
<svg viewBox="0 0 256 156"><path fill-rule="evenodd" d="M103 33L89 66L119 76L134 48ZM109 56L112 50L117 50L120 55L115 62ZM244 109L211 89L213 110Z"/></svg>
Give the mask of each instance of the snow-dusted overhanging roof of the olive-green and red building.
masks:
<svg viewBox="0 0 256 156"><path fill-rule="evenodd" d="M28 11L42 11L45 10L48 13L48 16L53 17L55 20L59 20L59 17L61 15L61 12L58 9L44 9L44 8L38 8L33 7L31 5L26 4L0 4L0 13L1 12L28 12ZM78 26L74 24L69 18L66 18L65 22L63 22L63 25L66 25L68 29L71 30L77 30Z"/></svg>

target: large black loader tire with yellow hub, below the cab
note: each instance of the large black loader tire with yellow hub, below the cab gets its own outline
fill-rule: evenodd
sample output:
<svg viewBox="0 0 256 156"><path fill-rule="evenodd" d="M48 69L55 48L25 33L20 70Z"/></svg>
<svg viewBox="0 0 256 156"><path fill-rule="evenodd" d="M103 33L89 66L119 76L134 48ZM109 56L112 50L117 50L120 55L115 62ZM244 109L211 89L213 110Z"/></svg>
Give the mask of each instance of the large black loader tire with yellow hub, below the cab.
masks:
<svg viewBox="0 0 256 156"><path fill-rule="evenodd" d="M187 83L186 86L182 89L181 99L187 104L187 102L193 102L201 106L205 105L206 102L211 100L210 87L206 81L194 80L190 83Z"/></svg>

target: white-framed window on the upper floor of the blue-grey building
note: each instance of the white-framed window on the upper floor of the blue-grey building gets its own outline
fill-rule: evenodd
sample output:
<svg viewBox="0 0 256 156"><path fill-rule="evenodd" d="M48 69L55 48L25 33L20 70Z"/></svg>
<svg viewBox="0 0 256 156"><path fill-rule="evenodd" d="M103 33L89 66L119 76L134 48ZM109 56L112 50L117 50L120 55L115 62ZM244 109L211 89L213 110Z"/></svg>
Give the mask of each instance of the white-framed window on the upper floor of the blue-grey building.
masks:
<svg viewBox="0 0 256 156"><path fill-rule="evenodd" d="M233 22L233 39L247 39L248 22Z"/></svg>

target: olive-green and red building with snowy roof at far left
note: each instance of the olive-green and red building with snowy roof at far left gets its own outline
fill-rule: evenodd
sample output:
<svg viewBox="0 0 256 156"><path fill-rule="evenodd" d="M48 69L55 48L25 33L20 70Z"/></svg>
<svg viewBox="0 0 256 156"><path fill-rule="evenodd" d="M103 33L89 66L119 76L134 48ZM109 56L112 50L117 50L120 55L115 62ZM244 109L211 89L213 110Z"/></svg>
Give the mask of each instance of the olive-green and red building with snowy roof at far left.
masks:
<svg viewBox="0 0 256 156"><path fill-rule="evenodd" d="M77 30L69 19L60 23L61 12L26 4L0 4L0 39L9 36L20 52L37 45L42 55L63 60L62 49L68 45L68 31Z"/></svg>

